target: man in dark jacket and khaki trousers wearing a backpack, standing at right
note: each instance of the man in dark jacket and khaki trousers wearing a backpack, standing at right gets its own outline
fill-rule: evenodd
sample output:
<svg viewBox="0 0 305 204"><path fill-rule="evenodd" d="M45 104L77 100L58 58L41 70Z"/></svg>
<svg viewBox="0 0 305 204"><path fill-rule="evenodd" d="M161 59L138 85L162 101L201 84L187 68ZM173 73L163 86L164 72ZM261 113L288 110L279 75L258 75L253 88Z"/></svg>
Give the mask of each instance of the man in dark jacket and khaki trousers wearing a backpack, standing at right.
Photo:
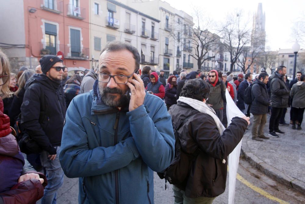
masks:
<svg viewBox="0 0 305 204"><path fill-rule="evenodd" d="M266 87L268 78L269 75L267 73L260 73L258 79L253 82L251 87L252 104L250 113L252 113L254 117L252 125L252 139L257 141L269 139L269 137L264 135L264 127L267 122L268 106L270 105Z"/></svg>

